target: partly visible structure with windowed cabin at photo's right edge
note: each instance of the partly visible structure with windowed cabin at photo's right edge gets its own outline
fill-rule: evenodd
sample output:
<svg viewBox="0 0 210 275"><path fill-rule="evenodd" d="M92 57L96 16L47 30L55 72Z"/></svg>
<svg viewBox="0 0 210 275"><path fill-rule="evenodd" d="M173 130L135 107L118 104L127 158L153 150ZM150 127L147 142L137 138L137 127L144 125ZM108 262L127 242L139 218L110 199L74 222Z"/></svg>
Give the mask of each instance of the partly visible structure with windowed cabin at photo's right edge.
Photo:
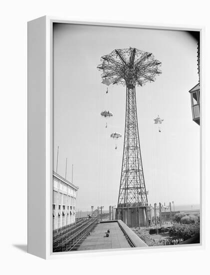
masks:
<svg viewBox="0 0 210 275"><path fill-rule="evenodd" d="M198 41L198 55L197 55L197 65L199 74L199 83L189 90L191 94L191 107L193 114L193 121L200 125L200 32L194 31L193 36Z"/></svg>

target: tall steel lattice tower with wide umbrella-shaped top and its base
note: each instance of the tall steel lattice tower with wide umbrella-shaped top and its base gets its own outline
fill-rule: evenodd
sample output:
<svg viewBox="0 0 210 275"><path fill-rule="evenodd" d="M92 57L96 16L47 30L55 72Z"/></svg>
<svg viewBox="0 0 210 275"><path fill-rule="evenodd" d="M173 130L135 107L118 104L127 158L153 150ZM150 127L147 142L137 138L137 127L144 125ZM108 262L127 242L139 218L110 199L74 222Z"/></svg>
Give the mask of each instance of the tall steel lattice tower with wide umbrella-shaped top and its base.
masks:
<svg viewBox="0 0 210 275"><path fill-rule="evenodd" d="M116 219L128 226L147 225L147 191L145 187L136 109L136 85L155 81L161 62L154 55L137 48L114 49L101 57L102 78L126 86L126 115L123 161Z"/></svg>

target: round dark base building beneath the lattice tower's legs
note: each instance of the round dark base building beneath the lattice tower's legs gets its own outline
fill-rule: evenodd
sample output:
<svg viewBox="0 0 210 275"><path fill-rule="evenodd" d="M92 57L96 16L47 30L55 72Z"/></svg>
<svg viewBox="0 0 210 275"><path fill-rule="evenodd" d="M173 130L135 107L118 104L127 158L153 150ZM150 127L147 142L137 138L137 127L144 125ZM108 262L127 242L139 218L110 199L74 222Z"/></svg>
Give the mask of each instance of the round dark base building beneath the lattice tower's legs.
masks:
<svg viewBox="0 0 210 275"><path fill-rule="evenodd" d="M115 218L121 219L129 227L148 226L147 203L144 204L120 203L117 205Z"/></svg>

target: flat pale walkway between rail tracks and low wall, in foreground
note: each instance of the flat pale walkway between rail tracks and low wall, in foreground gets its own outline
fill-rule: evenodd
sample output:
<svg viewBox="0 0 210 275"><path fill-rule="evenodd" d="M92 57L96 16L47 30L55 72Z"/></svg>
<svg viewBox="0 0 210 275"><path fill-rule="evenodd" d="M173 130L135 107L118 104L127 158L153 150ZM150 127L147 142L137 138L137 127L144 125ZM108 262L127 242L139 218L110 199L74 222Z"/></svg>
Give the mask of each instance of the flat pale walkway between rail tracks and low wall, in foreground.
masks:
<svg viewBox="0 0 210 275"><path fill-rule="evenodd" d="M109 237L105 232L110 230ZM117 222L98 223L91 235L80 245L78 250L111 249L131 247Z"/></svg>

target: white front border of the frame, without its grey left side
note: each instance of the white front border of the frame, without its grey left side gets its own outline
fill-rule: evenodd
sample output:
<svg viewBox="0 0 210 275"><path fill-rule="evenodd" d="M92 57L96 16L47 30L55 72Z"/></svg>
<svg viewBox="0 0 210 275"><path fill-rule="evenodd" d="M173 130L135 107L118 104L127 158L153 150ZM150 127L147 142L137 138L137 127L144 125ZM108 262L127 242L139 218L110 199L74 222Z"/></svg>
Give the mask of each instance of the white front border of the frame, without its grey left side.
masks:
<svg viewBox="0 0 210 275"><path fill-rule="evenodd" d="M170 30L195 30L200 31L201 33L201 91L202 91L202 111L201 111L201 153L200 153L200 168L201 168L201 183L200 183L200 190L201 190L201 243L198 245L195 244L189 244L185 245L185 247L167 247L167 251L175 251L175 250L189 250L189 249L201 249L205 248L205 209L204 209L204 202L205 202L205 196L204 196L204 190L205 190L205 89L204 89L204 40L205 40L205 26L192 26L192 25L174 25L174 24L156 24L156 23L144 23L144 22L127 22L127 21L107 21L107 20L99 20L99 21L91 21L91 20L85 20L81 21L79 18L72 20L71 18L59 18L55 16L43 16L40 18L37 18L35 20L40 20L41 18L45 18L45 30L46 30L46 82L45 82L45 95L46 95L46 132L45 132L45 145L46 145L46 154L45 154L45 161L46 161L46 171L45 171L45 255L43 258L52 259L52 258L60 258L60 257L66 257L66 256L79 256L79 255L92 255L97 252L100 252L100 254L106 255L107 253L112 252L113 254L118 253L136 253L136 252L158 252L162 251L162 247L155 248L154 247L148 247L148 248L135 248L134 250L129 249L114 249L114 250L96 250L96 251L75 251L75 252L61 252L61 253L53 253L52 252L52 207L50 206L52 204L52 100L53 100L53 56L52 56L52 31L53 31L53 23L73 23L73 24L91 24L91 25L107 25L107 26L121 26L121 27L141 27L141 28L155 28L155 29L170 29ZM29 21L30 22L33 22ZM187 92L187 91L186 91ZM151 249L152 248L152 249ZM29 252L29 251L28 251Z"/></svg>

